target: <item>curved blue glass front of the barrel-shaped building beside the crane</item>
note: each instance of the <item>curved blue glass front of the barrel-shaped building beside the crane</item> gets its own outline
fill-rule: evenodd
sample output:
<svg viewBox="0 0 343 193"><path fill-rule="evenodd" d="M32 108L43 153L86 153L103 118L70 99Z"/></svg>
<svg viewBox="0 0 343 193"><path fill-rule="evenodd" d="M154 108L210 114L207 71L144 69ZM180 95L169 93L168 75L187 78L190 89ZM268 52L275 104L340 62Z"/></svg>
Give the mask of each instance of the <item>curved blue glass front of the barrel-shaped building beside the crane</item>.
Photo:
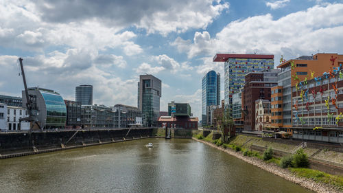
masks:
<svg viewBox="0 0 343 193"><path fill-rule="evenodd" d="M64 127L67 120L67 108L63 98L56 93L40 91L47 108L47 120L45 128Z"/></svg>

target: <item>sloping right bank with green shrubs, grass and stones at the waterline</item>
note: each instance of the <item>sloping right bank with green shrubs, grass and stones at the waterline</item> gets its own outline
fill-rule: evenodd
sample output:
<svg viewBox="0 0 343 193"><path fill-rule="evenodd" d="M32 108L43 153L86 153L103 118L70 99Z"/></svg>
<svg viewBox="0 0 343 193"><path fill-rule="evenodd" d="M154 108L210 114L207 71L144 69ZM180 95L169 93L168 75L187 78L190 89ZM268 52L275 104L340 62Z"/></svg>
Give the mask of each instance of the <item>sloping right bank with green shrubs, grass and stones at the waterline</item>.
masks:
<svg viewBox="0 0 343 193"><path fill-rule="evenodd" d="M231 155L239 155L236 156L240 159L242 157L250 157L252 159L259 159L263 164L268 164L271 166L276 166L279 168L278 170L281 171L281 173L285 173L289 171L289 175L293 175L294 177L298 177L298 180L292 180L292 177L289 177L288 179L295 182L299 183L300 185L303 185L306 188L309 188L311 190L314 190L316 192L341 192L343 191L343 176L338 176L338 175L331 175L327 174L324 172L320 172L317 170L311 170L308 169L307 167L309 166L309 160L305 152L300 149L296 152L295 155L287 155L285 157L282 157L281 159L273 157L273 150L271 147L267 148L265 152L261 155L261 153L249 150L248 148L244 148L243 146L237 146L237 144L233 144L231 141L228 141L227 143L224 143L222 141L222 138L220 139L212 139L213 137L213 132L211 132L209 135L206 137L202 136L202 133L194 134L193 139L199 139L200 141L206 141L207 144L212 144L212 146L217 146L217 148L220 149L226 149L227 150L232 150L235 153ZM246 161L246 159L244 159ZM248 161L251 163L250 161ZM254 164L255 165L255 164ZM255 165L256 166L256 165ZM259 166L260 167L260 166ZM260 167L263 168L263 167ZM282 169L282 168L287 168L287 169ZM272 171L270 171L272 172ZM274 174L277 174L273 172ZM281 177L284 177L283 174L278 174ZM287 179L287 177L284 177ZM308 179L309 182L302 182L301 178ZM309 185L308 183L318 183L319 185L311 184ZM326 187L327 186L327 187Z"/></svg>

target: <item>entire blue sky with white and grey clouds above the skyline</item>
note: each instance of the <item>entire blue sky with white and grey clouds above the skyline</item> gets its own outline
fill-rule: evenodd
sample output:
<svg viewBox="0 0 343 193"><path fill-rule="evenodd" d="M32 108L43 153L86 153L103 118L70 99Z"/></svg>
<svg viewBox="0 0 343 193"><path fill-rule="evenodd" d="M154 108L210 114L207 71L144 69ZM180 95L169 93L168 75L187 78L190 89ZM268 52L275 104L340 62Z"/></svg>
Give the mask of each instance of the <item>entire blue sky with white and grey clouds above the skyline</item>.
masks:
<svg viewBox="0 0 343 193"><path fill-rule="evenodd" d="M0 1L0 94L28 87L75 100L92 84L94 104L137 106L139 75L162 81L161 111L189 102L201 117L201 80L221 73L216 53L274 54L274 65L318 52L343 54L343 1Z"/></svg>

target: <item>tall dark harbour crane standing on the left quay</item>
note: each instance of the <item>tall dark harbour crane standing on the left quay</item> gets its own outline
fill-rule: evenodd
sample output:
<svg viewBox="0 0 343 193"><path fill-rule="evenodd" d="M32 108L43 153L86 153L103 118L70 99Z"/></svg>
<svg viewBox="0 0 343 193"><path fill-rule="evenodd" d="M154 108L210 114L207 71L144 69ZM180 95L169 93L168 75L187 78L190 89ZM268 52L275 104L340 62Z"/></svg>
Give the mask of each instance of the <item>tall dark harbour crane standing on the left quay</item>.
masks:
<svg viewBox="0 0 343 193"><path fill-rule="evenodd" d="M25 87L25 97L26 97L26 109L28 117L23 117L19 119L19 126L21 126L21 122L30 122L29 129L34 129L34 126L38 126L39 129L41 129L40 124L38 122L38 108L36 103L36 95L29 95L29 91L27 90L27 84L25 79L25 73L24 73L24 67L23 67L23 58L19 58L19 63L21 65L21 74L23 76L23 82Z"/></svg>

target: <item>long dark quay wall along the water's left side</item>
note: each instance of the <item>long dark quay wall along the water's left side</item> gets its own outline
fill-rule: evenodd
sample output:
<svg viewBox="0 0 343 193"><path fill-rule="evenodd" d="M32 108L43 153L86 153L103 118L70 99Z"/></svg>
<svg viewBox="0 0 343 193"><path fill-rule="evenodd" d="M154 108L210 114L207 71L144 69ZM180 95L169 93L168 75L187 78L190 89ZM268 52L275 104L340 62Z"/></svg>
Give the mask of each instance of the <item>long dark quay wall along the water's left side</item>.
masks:
<svg viewBox="0 0 343 193"><path fill-rule="evenodd" d="M0 159L151 137L153 128L0 133ZM127 135L128 133L128 135Z"/></svg>

